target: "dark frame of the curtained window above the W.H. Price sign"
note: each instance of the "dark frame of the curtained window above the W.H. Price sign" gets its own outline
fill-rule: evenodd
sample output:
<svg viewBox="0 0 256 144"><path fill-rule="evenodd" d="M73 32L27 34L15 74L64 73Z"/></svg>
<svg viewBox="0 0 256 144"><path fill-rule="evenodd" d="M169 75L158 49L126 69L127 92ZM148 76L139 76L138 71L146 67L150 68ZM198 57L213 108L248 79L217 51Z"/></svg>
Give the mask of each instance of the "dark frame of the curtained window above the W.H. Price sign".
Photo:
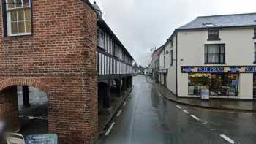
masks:
<svg viewBox="0 0 256 144"><path fill-rule="evenodd" d="M209 57L209 53L208 53L208 46L209 45L218 45L219 46L219 53L214 53L214 54L218 54L219 55L219 62L209 62L208 57ZM221 46L223 46L223 53L221 50ZM207 52L206 52L207 50ZM223 61L221 61L221 55L223 54ZM207 57L206 57L207 56ZM225 64L225 44L206 44L204 47L204 64Z"/></svg>

